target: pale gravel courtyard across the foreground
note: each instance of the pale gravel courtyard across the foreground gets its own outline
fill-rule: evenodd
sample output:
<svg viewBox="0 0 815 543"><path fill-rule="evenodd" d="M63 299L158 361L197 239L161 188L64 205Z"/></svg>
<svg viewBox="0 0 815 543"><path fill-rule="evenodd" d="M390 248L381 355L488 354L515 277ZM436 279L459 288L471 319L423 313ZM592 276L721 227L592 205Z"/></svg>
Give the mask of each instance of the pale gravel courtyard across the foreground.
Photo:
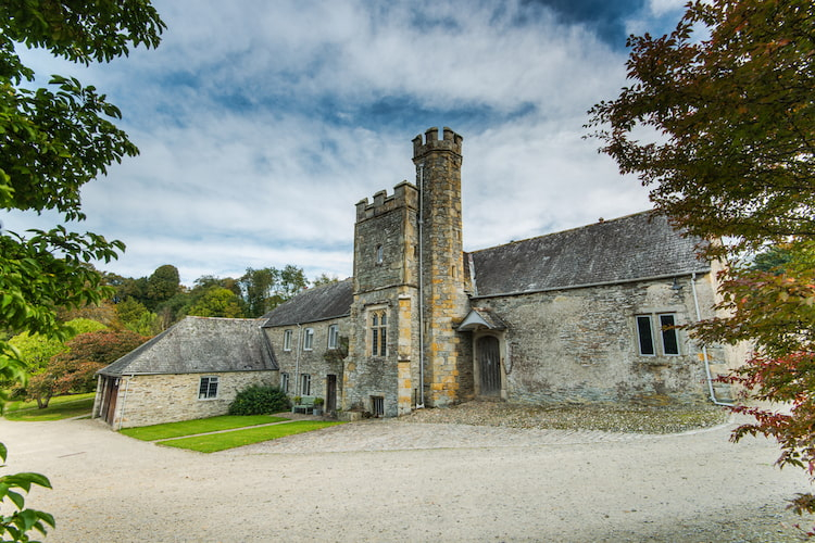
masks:
<svg viewBox="0 0 815 543"><path fill-rule="evenodd" d="M28 501L57 517L51 543L800 541L783 500L811 491L805 475L774 467L769 441L729 443L731 425L654 435L440 412L209 455L97 420L0 420L0 440L4 472L51 478Z"/></svg>

